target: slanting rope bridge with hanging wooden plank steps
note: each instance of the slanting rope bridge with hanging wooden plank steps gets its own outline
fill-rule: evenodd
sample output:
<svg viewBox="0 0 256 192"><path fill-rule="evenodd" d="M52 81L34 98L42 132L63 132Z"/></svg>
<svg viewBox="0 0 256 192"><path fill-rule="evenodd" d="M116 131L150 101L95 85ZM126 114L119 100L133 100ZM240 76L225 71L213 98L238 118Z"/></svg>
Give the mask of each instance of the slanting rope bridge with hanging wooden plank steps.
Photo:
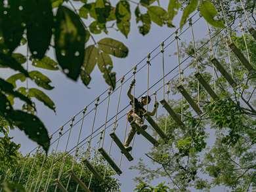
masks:
<svg viewBox="0 0 256 192"><path fill-rule="evenodd" d="M242 1L241 5L244 9ZM222 5L221 8L223 9ZM93 100L87 106L83 107L83 109L81 109L71 119L66 121L64 125L53 132L51 135L51 153L56 154L58 151L62 150L64 151L64 155L62 157L59 157L58 159L52 159L51 162L47 162L47 156L44 156L43 159L41 159L41 167L37 173L36 178L32 178L33 168L35 168L37 164L35 159L33 160L32 164L26 164L26 161L24 161L21 166L22 169L20 172L20 177L16 182L20 183L22 175L24 174L24 168L26 166L30 166L30 173L28 178L26 178L25 185L28 191L39 191L39 189L47 191L51 185L55 186L55 191L57 189L60 191L68 191L71 180L77 183L75 191L77 191L79 187L81 187L81 189L84 191L90 191L93 177L96 178L96 180L99 182L104 182L106 177L106 169L104 170L104 174L100 174L96 170L95 163L92 163L91 161L93 156L98 157L100 155L103 157L105 162L116 172L116 174L121 175L123 174L121 166L122 163L124 161L133 161L136 158L133 154L133 149L139 147L136 146L135 142L137 137L143 137L153 146L158 146L160 140L167 142L169 140L167 136L168 115L175 121L175 123L177 123L177 125L181 126L181 128L186 128L183 117L183 107L185 102L187 102L191 107L194 117L202 117L204 112L202 109L203 103L200 102L200 86L204 88L209 97L211 97L213 100L217 100L219 98L217 94L216 81L220 75L224 77L226 82L230 85L230 90L228 91L236 90L239 88L238 83L236 82L236 78L233 75L230 54L234 54L236 56L240 64L242 64L242 66L247 69L247 71L249 71L249 75L255 71L251 65L245 34L251 33L253 38L256 39L256 32L251 24L251 18L249 15L247 15L245 9L241 14L243 14L244 17L240 18L240 16L237 16L230 24L227 22L226 16L224 14L226 27L212 34L208 24L205 23L200 17L199 13L196 12L196 14L194 14L188 20L186 28L182 30L178 29L169 35L169 37L164 39L160 45L154 48L147 56L140 60L139 63L135 64L132 69L127 71L127 73L125 73L125 75L123 75L123 77L117 81L116 90L111 90L110 88L104 90L104 92L96 96L95 100ZM195 29L199 24L201 25L200 31L202 31L202 24L205 26L205 31L207 31L207 41L205 41L200 46L196 44L195 37ZM244 37L244 43L246 47L245 54L238 47L236 47L234 43L232 43L230 35L233 31L239 31L239 33ZM192 52L192 54L189 56L184 57L181 55L181 39L186 39L186 37L189 37L190 41L192 41L192 48L194 52ZM216 58L215 52L220 42L226 47L226 56L224 58ZM171 55L171 58L166 58L166 52L171 52L170 50L173 50L175 54ZM200 58L208 53L210 57L209 63L207 63L207 70L210 71L213 77L213 85L207 83L200 69ZM227 61L229 69L226 69L226 67L221 64L220 60L223 59ZM175 63L177 61L176 66L169 64L170 62L173 63L174 61ZM190 92L184 88L184 77L193 73L195 73L194 77L196 77L197 80L196 96L190 95ZM148 113L150 107L148 106L148 102L146 104L146 113L144 113L143 118L146 120L146 122L148 122L152 130L144 130L137 123L135 123L135 121L131 122L131 126L135 128L135 130L140 135L136 136L135 134L132 142L132 150L129 151L125 147L124 142L125 138L127 138L129 127L129 122L127 119L125 119L125 117L127 116L127 110L129 109L130 105L126 103L125 105L122 104L123 101L127 100L126 86L129 86L129 83L132 81L135 82L135 79L137 79L138 76L146 76L146 81L136 81L135 86L133 86L133 96L137 95L137 98L140 98L142 95L146 94L146 96L153 96L155 102L158 102L161 95L160 104L162 108L156 112L155 117L152 117ZM154 79L154 83L152 83L152 79ZM173 81L177 82L175 87L179 92L178 98L175 99L180 98L182 101L181 113L176 113L168 102L172 88L171 82ZM146 89L143 89L142 92L137 94L139 88L144 88L145 85ZM133 112L135 112L135 97L133 100L132 108ZM160 128L160 126L158 126L158 114L160 112L165 114L165 128L163 130ZM104 121L97 121L98 117L104 117ZM87 130L85 130L85 134L83 134L85 127ZM86 133L89 133L89 135ZM74 136L73 134L77 135ZM123 136L121 136L121 134ZM156 136L154 137L153 135ZM75 144L71 144L72 138L76 139ZM72 147L69 147L70 145L72 145ZM60 149L62 146L64 146L64 148ZM96 151L93 151L93 146L97 149ZM81 166L79 172L75 172L74 164L76 161L79 161L78 152L79 150L83 149L83 147L86 148L85 158L83 159L83 166ZM28 157L33 153L37 153L39 149L40 147L36 147L30 151L30 153L28 153ZM65 172L64 165L66 163L67 155L73 155L73 159L70 170ZM119 160L114 158L114 155L118 155ZM55 165L56 163L60 162L61 166L58 170L58 176L53 178ZM43 168L44 164L46 163L51 164L49 170L45 170ZM89 183L85 183L83 180L81 180L81 175L85 167L91 172ZM62 177L64 173L68 173L67 183L62 183ZM46 179L44 186L42 186L43 178ZM51 182L52 179L54 179L53 183Z"/></svg>

